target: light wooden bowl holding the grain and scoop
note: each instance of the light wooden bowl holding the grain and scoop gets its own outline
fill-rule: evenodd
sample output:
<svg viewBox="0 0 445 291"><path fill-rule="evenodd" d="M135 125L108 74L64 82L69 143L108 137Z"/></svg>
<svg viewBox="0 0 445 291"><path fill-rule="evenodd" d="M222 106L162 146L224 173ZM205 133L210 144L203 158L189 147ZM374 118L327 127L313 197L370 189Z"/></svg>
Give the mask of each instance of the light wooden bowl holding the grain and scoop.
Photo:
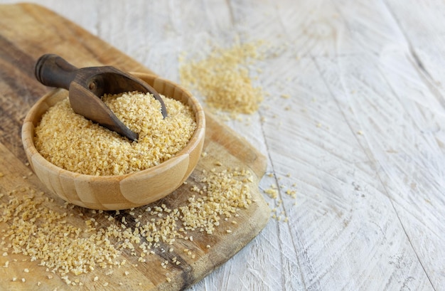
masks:
<svg viewBox="0 0 445 291"><path fill-rule="evenodd" d="M67 171L51 164L34 144L34 129L49 107L68 96L63 89L43 96L26 115L22 127L23 147L33 171L60 198L92 209L117 210L143 206L167 196L188 178L203 149L205 116L198 100L187 90L155 75L134 73L156 91L189 105L197 127L191 140L171 159L149 169L121 176L92 176Z"/></svg>

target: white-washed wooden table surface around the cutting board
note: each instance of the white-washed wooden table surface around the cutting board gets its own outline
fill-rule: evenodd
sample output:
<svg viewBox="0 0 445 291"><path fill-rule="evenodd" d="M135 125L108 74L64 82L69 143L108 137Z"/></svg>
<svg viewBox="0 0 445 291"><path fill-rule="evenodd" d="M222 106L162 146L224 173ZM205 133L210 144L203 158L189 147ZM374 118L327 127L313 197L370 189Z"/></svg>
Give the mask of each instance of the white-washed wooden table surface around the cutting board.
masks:
<svg viewBox="0 0 445 291"><path fill-rule="evenodd" d="M445 290L444 1L36 2L176 82L207 41L272 43L270 96L227 123L288 220L191 290Z"/></svg>

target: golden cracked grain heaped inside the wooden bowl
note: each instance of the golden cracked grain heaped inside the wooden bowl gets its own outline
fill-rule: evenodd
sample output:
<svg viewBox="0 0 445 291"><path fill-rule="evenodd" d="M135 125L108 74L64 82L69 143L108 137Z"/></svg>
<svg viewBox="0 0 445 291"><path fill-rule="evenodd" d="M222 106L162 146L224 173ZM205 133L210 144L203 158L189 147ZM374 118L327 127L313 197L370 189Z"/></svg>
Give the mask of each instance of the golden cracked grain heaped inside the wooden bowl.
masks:
<svg viewBox="0 0 445 291"><path fill-rule="evenodd" d="M67 98L50 107L36 127L38 152L52 164L80 174L129 174L173 157L196 128L191 108L168 97L163 97L168 112L165 119L161 104L150 94L126 92L102 100L139 134L137 142L75 114Z"/></svg>

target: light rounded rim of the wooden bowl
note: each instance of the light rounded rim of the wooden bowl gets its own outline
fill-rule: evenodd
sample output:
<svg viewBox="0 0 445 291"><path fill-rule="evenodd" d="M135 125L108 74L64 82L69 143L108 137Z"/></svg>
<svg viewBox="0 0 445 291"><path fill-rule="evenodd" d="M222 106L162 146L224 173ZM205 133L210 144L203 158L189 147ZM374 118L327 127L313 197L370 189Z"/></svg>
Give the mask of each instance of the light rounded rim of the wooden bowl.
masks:
<svg viewBox="0 0 445 291"><path fill-rule="evenodd" d="M177 83L173 83L171 80L167 80L165 78L161 78L157 75L150 74L150 73L138 73L138 72L132 72L132 75L136 76L137 78L141 78L142 80L149 78L154 80L161 80L163 83L168 83L169 85L173 85L176 90L181 90L184 94L188 96L188 100L191 100L193 106L195 107L193 112L195 113L195 122L196 122L196 128L195 132L193 132L191 138L189 139L188 143L186 144L181 151L177 152L173 157L167 159L164 162L161 162L160 164L156 164L155 166L151 166L147 169L143 169L140 171L134 171L132 173L122 174L122 175L90 175L90 174L81 174L77 173L75 171L70 171L67 169L63 169L60 166L57 166L51 162L49 162L47 159L45 159L40 152L38 152L38 149L36 148L34 144L34 138L32 135L35 126L33 123L33 119L31 117L37 115L38 111L41 110L41 107L43 103L48 99L48 97L53 96L55 92L58 91L67 91L65 89L55 88L54 90L51 90L50 92L46 93L42 97L37 100L37 102L31 107L31 109L26 114L25 119L23 120L23 126L21 129L21 138L23 143L23 148L25 149L25 152L28 152L28 159L38 159L38 162L41 162L44 166L47 166L48 169L54 169L58 171L59 175L63 176L70 176L73 179L85 179L85 180L94 180L94 181L109 181L110 179L122 181L124 179L129 178L130 176L134 175L143 175L143 174L156 174L156 172L162 172L164 168L171 167L176 159L182 159L181 156L184 154L189 154L193 151L196 147L199 147L200 142L204 138L205 134L205 113L203 110L202 105L200 105L200 102L198 101L198 98L196 98L193 94L191 94L190 91L186 90L186 88L183 88L181 85L178 85ZM146 80L144 80L146 82ZM162 93L161 93L162 94ZM163 95L163 94L162 94ZM169 97L164 95L165 97ZM173 98L174 99L174 98ZM49 108L49 107L48 107ZM46 109L48 110L48 109ZM46 112L46 110L43 111ZM42 113L42 115L43 115ZM41 115L41 116L42 116ZM32 161L29 161L31 166L33 164Z"/></svg>

